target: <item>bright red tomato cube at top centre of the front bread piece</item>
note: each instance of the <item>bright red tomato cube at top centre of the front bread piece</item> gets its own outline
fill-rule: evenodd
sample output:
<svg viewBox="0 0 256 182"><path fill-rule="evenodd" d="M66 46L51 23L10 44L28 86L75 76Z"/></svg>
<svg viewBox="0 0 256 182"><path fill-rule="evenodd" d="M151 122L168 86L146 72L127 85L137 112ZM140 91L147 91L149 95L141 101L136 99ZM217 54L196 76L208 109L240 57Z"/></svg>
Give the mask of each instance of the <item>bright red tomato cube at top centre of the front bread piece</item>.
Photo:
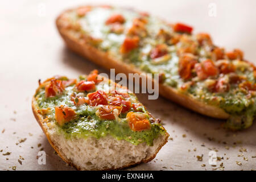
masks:
<svg viewBox="0 0 256 182"><path fill-rule="evenodd" d="M88 93L87 97L89 98L89 104L91 106L108 105L108 96L103 90L97 90L96 92Z"/></svg>

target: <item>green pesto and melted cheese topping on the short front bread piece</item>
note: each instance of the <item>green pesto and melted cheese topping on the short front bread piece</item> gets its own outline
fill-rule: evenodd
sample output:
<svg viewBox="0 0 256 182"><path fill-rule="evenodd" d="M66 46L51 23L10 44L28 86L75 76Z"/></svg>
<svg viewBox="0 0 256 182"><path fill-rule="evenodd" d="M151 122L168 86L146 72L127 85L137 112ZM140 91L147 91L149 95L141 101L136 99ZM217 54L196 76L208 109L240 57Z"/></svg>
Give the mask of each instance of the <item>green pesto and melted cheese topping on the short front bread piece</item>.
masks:
<svg viewBox="0 0 256 182"><path fill-rule="evenodd" d="M81 79L86 78L83 76ZM109 87L109 83L104 82L102 84L101 82L101 84L96 85L96 89L92 90L92 92L96 92L97 90L106 91ZM129 92L128 100L131 104L140 104L140 106L136 111L133 107L131 107L129 111L145 113L151 125L151 128L148 130L131 130L126 119L127 112L119 114L118 119L107 120L101 119L96 115L96 106L90 106L89 104L75 105L74 102L71 101L72 94L79 94L79 96L86 98L86 95L90 93L77 91L75 84L67 86L59 96L46 98L45 93L45 86L41 86L35 94L38 110L48 109L48 113L44 114L43 117L47 118L47 122L55 123L57 131L64 134L66 138L95 137L98 139L106 135L112 135L112 137L118 140L124 139L135 145L146 142L148 146L152 146L155 138L158 138L159 135L166 134L166 130L162 125L152 118L144 106L138 102L135 94L131 92ZM60 126L55 119L55 107L60 105L72 108L77 115L75 119L65 123L63 126Z"/></svg>

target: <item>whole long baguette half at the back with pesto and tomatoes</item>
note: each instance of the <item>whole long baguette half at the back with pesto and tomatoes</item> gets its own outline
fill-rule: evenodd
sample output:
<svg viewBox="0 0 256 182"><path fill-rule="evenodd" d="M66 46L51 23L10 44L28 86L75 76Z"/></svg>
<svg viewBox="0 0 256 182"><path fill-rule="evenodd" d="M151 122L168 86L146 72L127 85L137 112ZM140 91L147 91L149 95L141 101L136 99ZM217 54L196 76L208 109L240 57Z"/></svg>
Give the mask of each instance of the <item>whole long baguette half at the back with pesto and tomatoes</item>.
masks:
<svg viewBox="0 0 256 182"><path fill-rule="evenodd" d="M198 113L245 129L256 111L256 68L209 34L131 9L80 6L56 20L68 48L118 73L159 73L159 93ZM154 80L152 80L154 81Z"/></svg>

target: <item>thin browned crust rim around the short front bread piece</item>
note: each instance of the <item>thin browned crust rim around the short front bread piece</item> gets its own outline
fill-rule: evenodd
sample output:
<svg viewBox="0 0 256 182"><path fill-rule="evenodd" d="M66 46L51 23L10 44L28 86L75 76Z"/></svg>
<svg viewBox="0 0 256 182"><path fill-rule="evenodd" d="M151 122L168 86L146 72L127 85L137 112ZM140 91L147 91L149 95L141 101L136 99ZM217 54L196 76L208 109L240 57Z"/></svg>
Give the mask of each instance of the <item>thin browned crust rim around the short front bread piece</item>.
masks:
<svg viewBox="0 0 256 182"><path fill-rule="evenodd" d="M36 92L37 92L37 90L36 90ZM51 139L51 137L50 137L50 135L49 135L49 133L47 131L47 127L43 125L43 122L44 122L43 121L43 115L39 114L38 110L36 109L35 95L32 98L32 111L33 111L33 114L34 114L34 116L36 118L36 121L38 121L38 123L39 123L40 127L42 128L44 134L46 135L49 143L51 144L52 148L57 152L57 154L60 156L60 158L63 159L64 162L68 163L70 166L75 167L77 170L82 170L79 166L77 166L75 163L73 163L72 160L69 160L65 156L65 154L59 149L57 144L55 142L53 142L53 140ZM122 166L122 167L119 167L119 168L104 168L104 169L93 169L93 170L94 171L99 171L99 170L108 170L108 171L109 170L117 170L117 169L128 168L128 167L134 166L136 164L140 164L140 163L150 162L151 160L153 160L155 158L156 154L158 154L159 150L164 146L164 144L166 144L168 142L168 137L169 137L169 134L166 132L166 134L163 136L162 143L159 144L158 148L156 148L155 153L153 155L151 155L149 158L142 159L140 162L137 162L137 163L131 162L131 163L127 164L126 166Z"/></svg>

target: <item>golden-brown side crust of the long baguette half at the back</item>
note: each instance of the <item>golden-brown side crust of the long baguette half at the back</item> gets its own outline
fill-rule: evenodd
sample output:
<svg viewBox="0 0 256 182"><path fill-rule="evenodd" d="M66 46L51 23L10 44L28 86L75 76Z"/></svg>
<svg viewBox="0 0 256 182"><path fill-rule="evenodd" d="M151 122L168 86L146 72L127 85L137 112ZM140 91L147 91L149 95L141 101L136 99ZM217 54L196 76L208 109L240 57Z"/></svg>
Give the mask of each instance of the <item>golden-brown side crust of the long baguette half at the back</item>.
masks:
<svg viewBox="0 0 256 182"><path fill-rule="evenodd" d="M59 31L61 37L64 39L64 42L69 49L71 49L73 52L78 53L82 57L93 61L101 67L104 67L106 69L114 68L117 73L125 73L127 76L129 73L143 73L139 69L135 68L134 65L124 63L120 60L115 60L107 52L100 51L97 48L91 46L90 43L88 43L88 39L77 39L75 36L73 36L71 34L72 30L67 28L68 22L65 22L65 19L63 19L64 14L68 11L70 10L64 11L57 17L56 26L57 30ZM143 76L147 79L150 79L146 75ZM154 82L154 80L152 80L152 82ZM171 86L159 84L159 93L161 96L167 98L168 100L174 101L177 104L196 111L197 113L218 119L229 118L229 114L220 107L208 105L203 101L196 100L192 96L179 93Z"/></svg>

